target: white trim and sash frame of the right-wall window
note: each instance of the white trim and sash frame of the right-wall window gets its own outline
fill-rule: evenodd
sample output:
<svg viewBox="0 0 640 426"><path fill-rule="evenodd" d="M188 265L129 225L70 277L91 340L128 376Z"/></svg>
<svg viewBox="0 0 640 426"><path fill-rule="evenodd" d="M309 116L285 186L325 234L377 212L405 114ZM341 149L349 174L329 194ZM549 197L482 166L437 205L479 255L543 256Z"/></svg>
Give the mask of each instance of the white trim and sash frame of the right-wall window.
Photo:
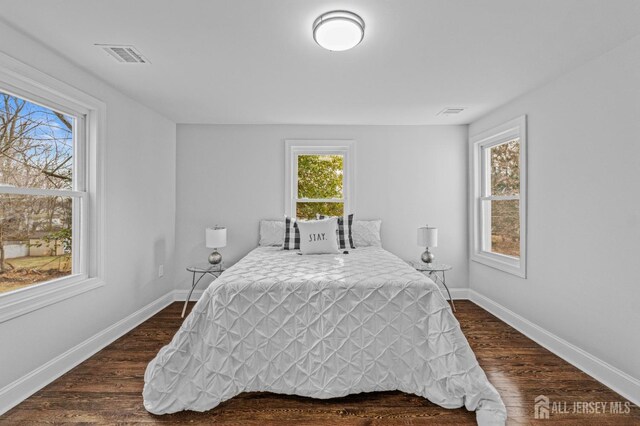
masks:
<svg viewBox="0 0 640 426"><path fill-rule="evenodd" d="M518 138L520 140L520 258L505 256L482 250L483 229L480 221L483 197L484 175L482 150ZM527 277L527 117L525 115L510 120L469 138L469 164L471 173L469 200L469 246L470 258L492 268L519 276ZM492 199L515 199L517 197L493 196ZM485 224L486 226L487 224Z"/></svg>

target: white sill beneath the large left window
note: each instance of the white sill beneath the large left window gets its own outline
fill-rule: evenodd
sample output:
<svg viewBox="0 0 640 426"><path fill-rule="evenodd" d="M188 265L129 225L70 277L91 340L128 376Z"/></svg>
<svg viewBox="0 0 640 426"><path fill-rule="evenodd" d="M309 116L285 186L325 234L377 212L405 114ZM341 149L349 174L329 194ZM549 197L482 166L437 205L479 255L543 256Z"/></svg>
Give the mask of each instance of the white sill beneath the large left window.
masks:
<svg viewBox="0 0 640 426"><path fill-rule="evenodd" d="M103 285L104 281L98 278L74 275L2 294L0 295L0 323L78 296Z"/></svg>

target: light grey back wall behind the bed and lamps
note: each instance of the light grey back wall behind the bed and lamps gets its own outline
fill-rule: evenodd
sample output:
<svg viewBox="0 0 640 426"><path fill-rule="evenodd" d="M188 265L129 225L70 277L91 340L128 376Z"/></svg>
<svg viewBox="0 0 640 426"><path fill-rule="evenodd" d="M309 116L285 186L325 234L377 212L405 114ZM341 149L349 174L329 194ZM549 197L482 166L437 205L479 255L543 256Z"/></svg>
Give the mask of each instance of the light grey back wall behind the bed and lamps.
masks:
<svg viewBox="0 0 640 426"><path fill-rule="evenodd" d="M285 139L355 139L356 218L381 218L383 246L405 259L424 250L416 229L437 226L448 283L466 287L466 138L466 126L178 125L181 286L187 265L206 262L206 226L228 227L221 253L234 263L257 246L260 219L283 217Z"/></svg>

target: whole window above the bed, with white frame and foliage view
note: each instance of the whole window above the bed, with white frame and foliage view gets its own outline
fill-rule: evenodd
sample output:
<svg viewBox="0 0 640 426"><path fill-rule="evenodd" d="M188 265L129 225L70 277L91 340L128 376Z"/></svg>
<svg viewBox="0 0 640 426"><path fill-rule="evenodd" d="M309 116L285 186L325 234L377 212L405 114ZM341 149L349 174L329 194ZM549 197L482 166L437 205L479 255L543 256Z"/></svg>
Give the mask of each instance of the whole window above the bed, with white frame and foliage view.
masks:
<svg viewBox="0 0 640 426"><path fill-rule="evenodd" d="M299 219L353 208L353 141L286 141L285 212Z"/></svg>

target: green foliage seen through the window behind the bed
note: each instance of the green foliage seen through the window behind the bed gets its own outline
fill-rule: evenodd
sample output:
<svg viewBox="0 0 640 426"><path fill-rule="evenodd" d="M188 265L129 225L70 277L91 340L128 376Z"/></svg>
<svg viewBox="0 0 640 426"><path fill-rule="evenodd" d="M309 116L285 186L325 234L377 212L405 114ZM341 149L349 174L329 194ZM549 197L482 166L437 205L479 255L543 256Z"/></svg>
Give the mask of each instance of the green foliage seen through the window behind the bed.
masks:
<svg viewBox="0 0 640 426"><path fill-rule="evenodd" d="M298 198L343 198L342 155L300 155L298 157ZM343 203L299 202L296 216L315 219L316 214L341 216Z"/></svg>

